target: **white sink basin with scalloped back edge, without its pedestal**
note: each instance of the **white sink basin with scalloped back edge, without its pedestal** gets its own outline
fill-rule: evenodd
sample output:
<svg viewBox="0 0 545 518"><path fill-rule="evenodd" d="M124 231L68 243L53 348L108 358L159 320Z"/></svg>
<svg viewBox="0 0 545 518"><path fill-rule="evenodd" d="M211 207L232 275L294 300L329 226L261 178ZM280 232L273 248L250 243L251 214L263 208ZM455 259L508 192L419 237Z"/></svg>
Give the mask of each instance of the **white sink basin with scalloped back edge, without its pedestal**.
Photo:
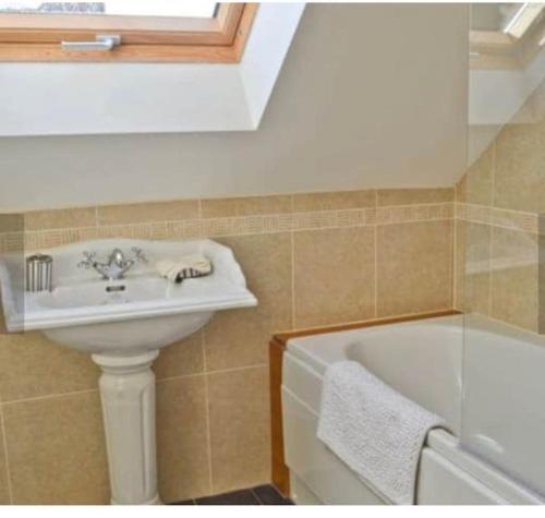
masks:
<svg viewBox="0 0 545 518"><path fill-rule="evenodd" d="M77 263L84 251L108 255L114 248L141 248L148 262L123 279L108 281ZM53 256L53 291L24 291L21 254L0 262L0 286L8 330L39 329L52 340L90 353L126 354L160 349L191 335L215 311L257 304L230 249L210 240L100 240L70 244ZM162 279L160 260L199 253L214 265L207 277L182 284Z"/></svg>

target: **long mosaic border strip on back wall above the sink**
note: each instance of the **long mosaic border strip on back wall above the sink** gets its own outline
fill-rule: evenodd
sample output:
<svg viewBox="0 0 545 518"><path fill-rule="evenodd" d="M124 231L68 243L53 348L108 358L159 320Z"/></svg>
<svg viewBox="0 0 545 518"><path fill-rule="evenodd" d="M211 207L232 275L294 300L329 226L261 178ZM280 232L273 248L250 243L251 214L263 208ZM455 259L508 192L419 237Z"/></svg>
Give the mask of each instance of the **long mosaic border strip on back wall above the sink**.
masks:
<svg viewBox="0 0 545 518"><path fill-rule="evenodd" d="M190 239L250 236L290 231L396 225L452 219L455 204L432 203L378 208L317 210L226 218L184 219L77 229L38 230L0 234L0 251L41 250L104 238Z"/></svg>

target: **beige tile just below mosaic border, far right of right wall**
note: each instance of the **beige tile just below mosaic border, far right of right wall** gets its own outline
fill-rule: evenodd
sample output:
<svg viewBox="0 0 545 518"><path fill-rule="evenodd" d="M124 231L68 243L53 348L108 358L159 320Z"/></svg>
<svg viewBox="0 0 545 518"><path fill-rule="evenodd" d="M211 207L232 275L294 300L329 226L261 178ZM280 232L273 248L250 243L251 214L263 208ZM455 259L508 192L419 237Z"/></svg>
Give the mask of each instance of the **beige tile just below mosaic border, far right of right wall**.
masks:
<svg viewBox="0 0 545 518"><path fill-rule="evenodd" d="M537 239L494 228L492 232L492 316L537 330Z"/></svg>

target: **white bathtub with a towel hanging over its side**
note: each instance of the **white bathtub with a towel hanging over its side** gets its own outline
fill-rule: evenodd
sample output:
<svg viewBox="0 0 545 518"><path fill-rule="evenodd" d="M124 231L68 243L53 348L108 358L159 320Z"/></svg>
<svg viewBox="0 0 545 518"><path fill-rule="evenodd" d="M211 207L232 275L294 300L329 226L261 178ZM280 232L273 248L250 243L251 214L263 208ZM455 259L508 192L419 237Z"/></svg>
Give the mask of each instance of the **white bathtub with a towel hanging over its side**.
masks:
<svg viewBox="0 0 545 518"><path fill-rule="evenodd" d="M417 504L545 503L545 347L535 335L474 316L288 341L282 414L296 503L386 503L316 438L323 374L347 359L448 423L451 433L428 434Z"/></svg>

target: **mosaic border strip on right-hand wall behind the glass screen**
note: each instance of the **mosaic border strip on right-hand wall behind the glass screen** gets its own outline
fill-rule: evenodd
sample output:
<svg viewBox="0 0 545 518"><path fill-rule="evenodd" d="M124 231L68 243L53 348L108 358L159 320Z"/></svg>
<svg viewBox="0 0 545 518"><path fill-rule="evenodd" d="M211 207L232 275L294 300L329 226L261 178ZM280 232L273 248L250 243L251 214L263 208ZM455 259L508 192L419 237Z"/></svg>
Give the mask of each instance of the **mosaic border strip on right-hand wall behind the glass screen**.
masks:
<svg viewBox="0 0 545 518"><path fill-rule="evenodd" d="M538 232L540 216L535 213L509 210L470 203L457 203L455 213L456 218L463 221L520 230L529 233Z"/></svg>

